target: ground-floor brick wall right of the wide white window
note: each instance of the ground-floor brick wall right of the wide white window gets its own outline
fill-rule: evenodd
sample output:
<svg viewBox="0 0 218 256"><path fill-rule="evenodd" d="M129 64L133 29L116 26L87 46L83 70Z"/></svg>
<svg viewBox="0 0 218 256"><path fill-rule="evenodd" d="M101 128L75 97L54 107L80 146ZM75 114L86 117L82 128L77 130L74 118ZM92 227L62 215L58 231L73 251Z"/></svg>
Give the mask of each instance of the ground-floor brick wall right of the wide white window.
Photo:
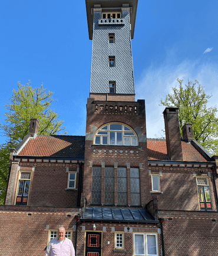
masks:
<svg viewBox="0 0 218 256"><path fill-rule="evenodd" d="M217 212L160 211L167 256L218 255Z"/></svg>

